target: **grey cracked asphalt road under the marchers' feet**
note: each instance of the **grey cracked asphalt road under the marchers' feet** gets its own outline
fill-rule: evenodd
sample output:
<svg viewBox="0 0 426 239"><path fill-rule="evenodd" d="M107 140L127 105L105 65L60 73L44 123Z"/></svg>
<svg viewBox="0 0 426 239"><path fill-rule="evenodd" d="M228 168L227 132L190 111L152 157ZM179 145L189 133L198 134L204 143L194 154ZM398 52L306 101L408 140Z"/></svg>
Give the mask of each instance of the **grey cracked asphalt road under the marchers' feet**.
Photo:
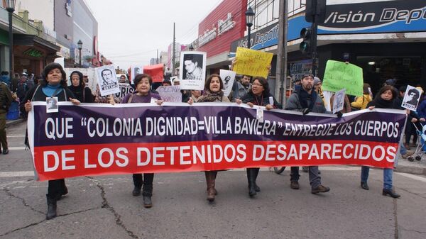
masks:
<svg viewBox="0 0 426 239"><path fill-rule="evenodd" d="M9 127L11 150L0 155L0 238L426 238L426 177L394 173L402 196L392 199L381 195L380 169L366 191L349 166L321 167L331 191L318 195L303 172L293 190L288 169L263 169L254 199L246 172L219 172L213 204L203 172L155 174L151 209L131 195L131 175L66 179L59 216L46 221L47 183L33 180L24 133L24 123Z"/></svg>

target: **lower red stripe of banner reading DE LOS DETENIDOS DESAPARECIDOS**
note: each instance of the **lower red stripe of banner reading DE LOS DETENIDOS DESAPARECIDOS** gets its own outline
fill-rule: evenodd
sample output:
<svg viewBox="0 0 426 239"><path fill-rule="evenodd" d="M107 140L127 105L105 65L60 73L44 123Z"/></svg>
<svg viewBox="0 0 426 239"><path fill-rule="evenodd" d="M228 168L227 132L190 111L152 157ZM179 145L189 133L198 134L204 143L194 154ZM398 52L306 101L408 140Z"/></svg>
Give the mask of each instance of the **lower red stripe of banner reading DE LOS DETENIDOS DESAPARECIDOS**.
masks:
<svg viewBox="0 0 426 239"><path fill-rule="evenodd" d="M356 140L110 143L34 148L38 180L246 167L368 165L393 168L398 143Z"/></svg>

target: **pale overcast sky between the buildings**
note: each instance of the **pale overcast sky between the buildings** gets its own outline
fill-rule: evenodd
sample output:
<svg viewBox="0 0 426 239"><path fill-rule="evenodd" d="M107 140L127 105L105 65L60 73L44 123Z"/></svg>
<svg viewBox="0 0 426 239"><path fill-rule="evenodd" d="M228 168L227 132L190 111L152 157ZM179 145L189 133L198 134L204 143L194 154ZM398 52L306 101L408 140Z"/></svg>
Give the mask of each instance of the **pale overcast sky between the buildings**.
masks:
<svg viewBox="0 0 426 239"><path fill-rule="evenodd" d="M115 67L149 65L176 42L192 43L198 24L222 0L85 0L98 22L99 52Z"/></svg>

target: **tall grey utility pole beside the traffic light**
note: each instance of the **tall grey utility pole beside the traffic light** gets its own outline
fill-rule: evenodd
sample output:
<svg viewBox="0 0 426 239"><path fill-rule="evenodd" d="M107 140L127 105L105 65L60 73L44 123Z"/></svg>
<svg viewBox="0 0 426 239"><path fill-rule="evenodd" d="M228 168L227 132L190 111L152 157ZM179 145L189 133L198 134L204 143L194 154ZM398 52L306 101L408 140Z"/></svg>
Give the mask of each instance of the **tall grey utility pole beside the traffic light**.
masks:
<svg viewBox="0 0 426 239"><path fill-rule="evenodd" d="M287 90L287 32L288 32L288 1L280 0L278 18L278 52L275 73L275 99L285 105Z"/></svg>

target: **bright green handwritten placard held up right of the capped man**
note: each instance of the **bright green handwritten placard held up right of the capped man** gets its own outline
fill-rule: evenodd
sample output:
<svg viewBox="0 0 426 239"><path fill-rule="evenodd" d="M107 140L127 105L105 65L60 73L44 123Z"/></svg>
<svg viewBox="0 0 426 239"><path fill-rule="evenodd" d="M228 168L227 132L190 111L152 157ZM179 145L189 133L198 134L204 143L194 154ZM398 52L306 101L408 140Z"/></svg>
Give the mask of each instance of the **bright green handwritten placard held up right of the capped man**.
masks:
<svg viewBox="0 0 426 239"><path fill-rule="evenodd" d="M364 78L362 68L345 62L327 60L322 90L337 92L346 89L346 94L362 96Z"/></svg>

